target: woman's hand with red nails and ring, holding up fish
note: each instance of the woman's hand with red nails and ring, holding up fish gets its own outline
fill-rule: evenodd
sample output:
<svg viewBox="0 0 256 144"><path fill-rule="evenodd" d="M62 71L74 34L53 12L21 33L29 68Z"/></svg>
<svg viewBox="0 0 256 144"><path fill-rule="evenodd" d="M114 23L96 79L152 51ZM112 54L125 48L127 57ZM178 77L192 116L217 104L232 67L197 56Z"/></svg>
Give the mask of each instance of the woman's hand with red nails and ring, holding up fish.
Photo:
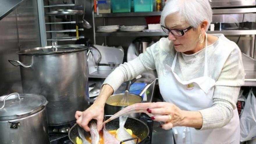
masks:
<svg viewBox="0 0 256 144"><path fill-rule="evenodd" d="M183 111L176 105L168 102L152 103L148 107L147 112L157 115L152 116L152 120L165 122L165 124L160 125L160 127L166 130L181 126L182 120L184 119Z"/></svg>

